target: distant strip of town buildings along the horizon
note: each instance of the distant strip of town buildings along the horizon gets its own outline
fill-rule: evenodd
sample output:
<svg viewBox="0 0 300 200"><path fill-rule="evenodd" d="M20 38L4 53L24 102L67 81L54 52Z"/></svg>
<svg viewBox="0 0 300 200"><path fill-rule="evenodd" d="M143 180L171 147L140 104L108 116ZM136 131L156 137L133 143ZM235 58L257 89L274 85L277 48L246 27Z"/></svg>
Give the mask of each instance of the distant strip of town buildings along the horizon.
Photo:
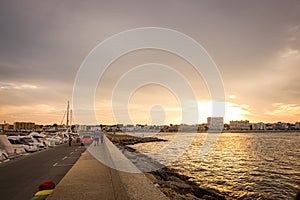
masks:
<svg viewBox="0 0 300 200"><path fill-rule="evenodd" d="M35 124L34 122L14 122L13 124L0 124L1 133L22 132L61 132L72 130L72 132L95 131L99 128L107 132L282 132L282 131L300 131L300 122L296 123L251 123L249 120L223 122L222 117L208 117L207 123L202 124L74 124L66 126L65 124Z"/></svg>

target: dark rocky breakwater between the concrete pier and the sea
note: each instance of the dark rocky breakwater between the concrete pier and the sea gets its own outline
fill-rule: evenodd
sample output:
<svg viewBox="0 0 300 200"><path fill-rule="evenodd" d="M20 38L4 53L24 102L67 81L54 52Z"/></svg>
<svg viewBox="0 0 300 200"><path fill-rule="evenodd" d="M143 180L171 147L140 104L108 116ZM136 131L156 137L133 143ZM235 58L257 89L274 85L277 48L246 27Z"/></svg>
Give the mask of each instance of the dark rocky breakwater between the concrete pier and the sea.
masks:
<svg viewBox="0 0 300 200"><path fill-rule="evenodd" d="M210 199L223 200L224 196L218 191L204 189L190 180L190 177L177 173L174 169L166 167L148 156L139 153L127 145L145 142L163 142L166 140L156 137L134 137L130 135L108 135L108 138L124 153L124 155L141 171L147 171L145 166L157 168L155 171L145 173L153 184L158 187L168 198L175 200L183 199Z"/></svg>

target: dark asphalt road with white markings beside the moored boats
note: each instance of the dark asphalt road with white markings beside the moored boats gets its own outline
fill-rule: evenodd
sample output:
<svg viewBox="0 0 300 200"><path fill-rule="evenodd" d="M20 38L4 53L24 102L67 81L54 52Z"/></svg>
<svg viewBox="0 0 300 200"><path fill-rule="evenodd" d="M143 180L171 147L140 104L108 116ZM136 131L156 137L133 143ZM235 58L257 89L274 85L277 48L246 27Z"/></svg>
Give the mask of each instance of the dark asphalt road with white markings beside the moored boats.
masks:
<svg viewBox="0 0 300 200"><path fill-rule="evenodd" d="M30 200L41 183L58 184L85 149L62 144L0 163L0 199Z"/></svg>

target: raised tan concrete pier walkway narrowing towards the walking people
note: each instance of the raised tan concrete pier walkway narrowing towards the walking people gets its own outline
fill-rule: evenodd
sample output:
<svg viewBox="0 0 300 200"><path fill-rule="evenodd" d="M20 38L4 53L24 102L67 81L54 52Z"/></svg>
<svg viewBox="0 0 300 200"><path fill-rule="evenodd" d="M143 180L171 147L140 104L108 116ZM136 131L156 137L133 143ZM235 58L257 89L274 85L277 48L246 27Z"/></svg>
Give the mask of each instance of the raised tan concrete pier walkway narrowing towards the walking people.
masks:
<svg viewBox="0 0 300 200"><path fill-rule="evenodd" d="M117 170L121 168L135 173ZM168 199L143 173L138 172L105 138L104 144L91 145L82 154L47 200Z"/></svg>

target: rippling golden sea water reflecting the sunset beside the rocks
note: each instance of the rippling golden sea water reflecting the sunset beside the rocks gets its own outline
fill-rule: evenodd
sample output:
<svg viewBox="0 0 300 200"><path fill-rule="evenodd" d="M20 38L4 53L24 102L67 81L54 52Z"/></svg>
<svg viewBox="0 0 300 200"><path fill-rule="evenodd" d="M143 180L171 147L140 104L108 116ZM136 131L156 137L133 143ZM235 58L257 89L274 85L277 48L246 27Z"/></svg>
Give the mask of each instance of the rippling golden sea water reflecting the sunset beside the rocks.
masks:
<svg viewBox="0 0 300 200"><path fill-rule="evenodd" d="M174 138L168 133L155 136ZM205 136L198 133L188 150L170 163L201 187L216 189L228 199L294 199L300 191L300 133L222 133L210 153L200 156ZM166 145L133 147L149 153Z"/></svg>

